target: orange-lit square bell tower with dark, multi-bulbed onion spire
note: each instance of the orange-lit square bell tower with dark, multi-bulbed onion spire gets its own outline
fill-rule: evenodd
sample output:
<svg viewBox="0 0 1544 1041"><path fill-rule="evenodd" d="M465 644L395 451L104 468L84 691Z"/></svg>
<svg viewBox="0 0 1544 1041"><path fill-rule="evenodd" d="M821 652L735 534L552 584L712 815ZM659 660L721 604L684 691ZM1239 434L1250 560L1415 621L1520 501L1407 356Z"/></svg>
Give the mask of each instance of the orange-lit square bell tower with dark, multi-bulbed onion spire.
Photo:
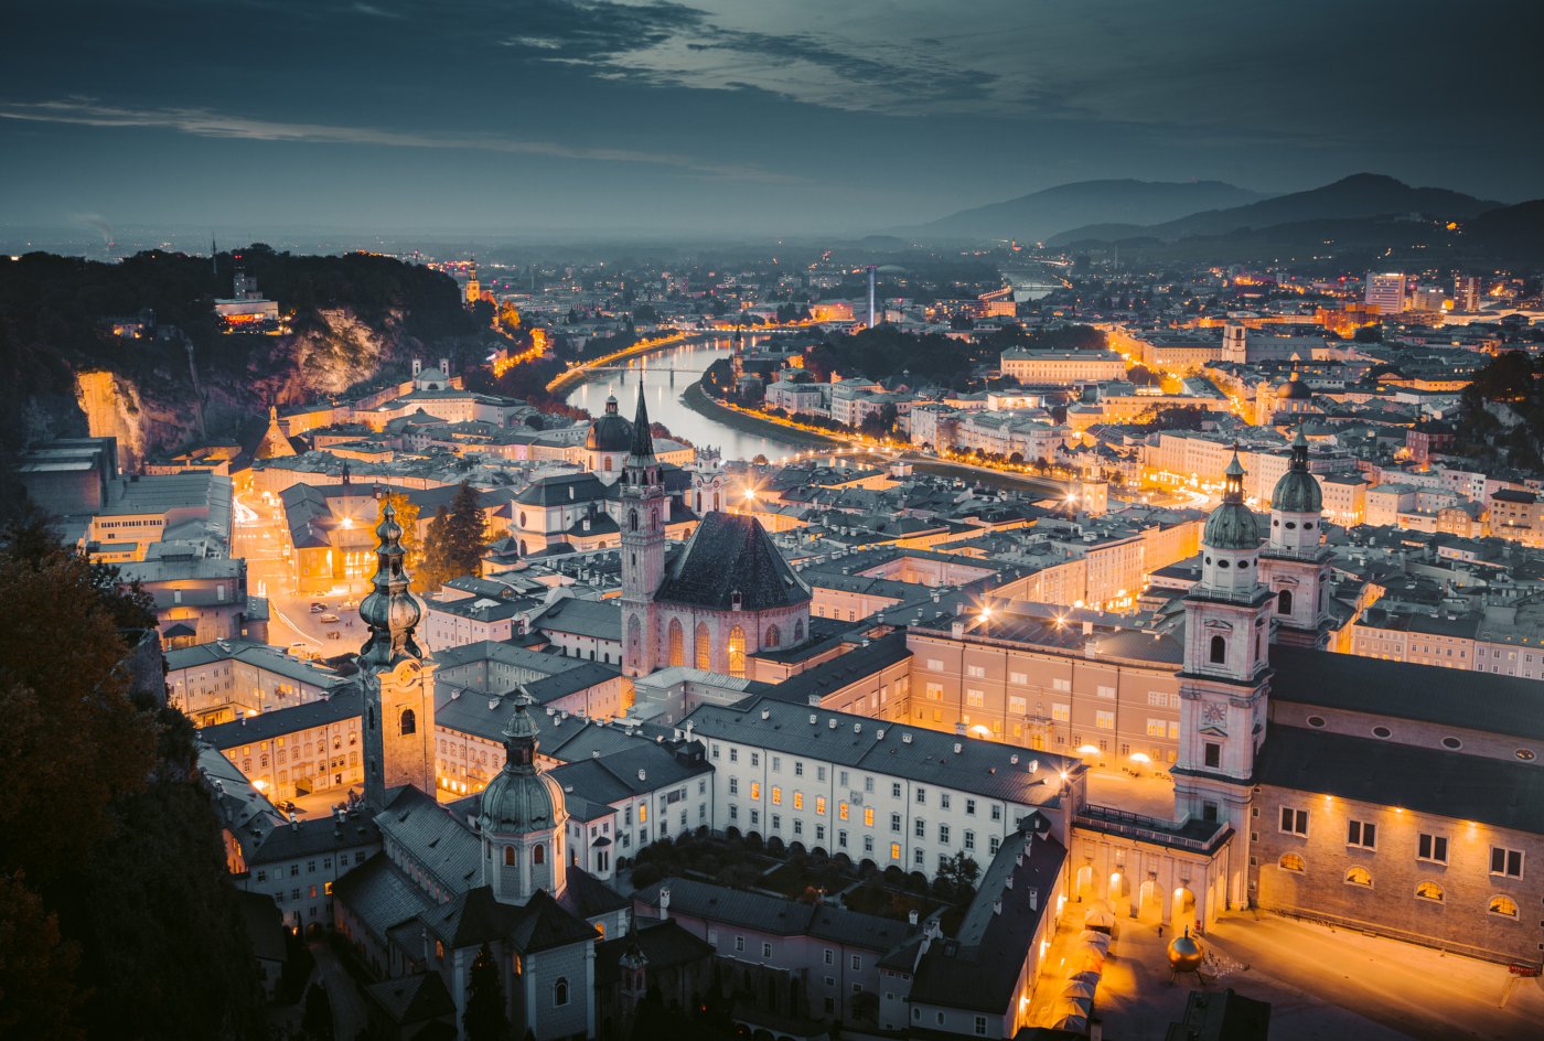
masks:
<svg viewBox="0 0 1544 1041"><path fill-rule="evenodd" d="M386 792L414 785L434 795L434 661L414 639L423 605L409 592L401 525L381 500L374 585L360 604L369 639L360 649L364 690L364 799L380 809Z"/></svg>

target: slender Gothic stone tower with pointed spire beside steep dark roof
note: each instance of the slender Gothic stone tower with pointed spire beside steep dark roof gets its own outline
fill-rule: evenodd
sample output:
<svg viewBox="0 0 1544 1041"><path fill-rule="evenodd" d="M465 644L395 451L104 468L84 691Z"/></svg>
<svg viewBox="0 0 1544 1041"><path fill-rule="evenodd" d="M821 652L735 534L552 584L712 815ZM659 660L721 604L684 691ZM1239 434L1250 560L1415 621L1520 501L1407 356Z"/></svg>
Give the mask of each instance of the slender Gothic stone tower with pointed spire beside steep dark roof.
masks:
<svg viewBox="0 0 1544 1041"><path fill-rule="evenodd" d="M665 497L648 431L644 386L638 385L633 446L622 465L622 673L647 676L659 666L655 595L665 578Z"/></svg>

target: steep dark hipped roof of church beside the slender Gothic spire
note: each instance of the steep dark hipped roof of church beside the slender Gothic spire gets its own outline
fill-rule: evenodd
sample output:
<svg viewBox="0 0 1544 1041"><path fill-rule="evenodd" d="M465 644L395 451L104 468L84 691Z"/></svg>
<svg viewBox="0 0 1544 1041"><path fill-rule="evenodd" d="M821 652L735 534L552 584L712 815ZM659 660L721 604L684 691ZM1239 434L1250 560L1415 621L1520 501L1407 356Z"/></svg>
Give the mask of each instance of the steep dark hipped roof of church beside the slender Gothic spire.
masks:
<svg viewBox="0 0 1544 1041"><path fill-rule="evenodd" d="M709 513L692 533L655 599L710 610L792 607L811 599L755 517Z"/></svg>

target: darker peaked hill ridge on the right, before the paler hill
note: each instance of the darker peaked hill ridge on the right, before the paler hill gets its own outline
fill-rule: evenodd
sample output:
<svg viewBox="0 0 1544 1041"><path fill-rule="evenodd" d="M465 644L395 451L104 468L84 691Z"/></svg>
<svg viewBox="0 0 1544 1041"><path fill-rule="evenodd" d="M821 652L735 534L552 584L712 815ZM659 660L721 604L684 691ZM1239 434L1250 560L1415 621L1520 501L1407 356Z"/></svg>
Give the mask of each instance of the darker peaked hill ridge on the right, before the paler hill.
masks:
<svg viewBox="0 0 1544 1041"><path fill-rule="evenodd" d="M1278 224L1346 221L1407 213L1462 221L1499 205L1501 202L1476 199L1462 192L1413 188L1403 181L1377 173L1356 173L1320 188L1278 195L1246 205L1204 210L1146 227L1112 227L1107 222L1076 227L1055 235L1048 239L1048 244L1118 242L1138 236L1175 242L1183 238L1229 235L1240 230L1275 227Z"/></svg>

